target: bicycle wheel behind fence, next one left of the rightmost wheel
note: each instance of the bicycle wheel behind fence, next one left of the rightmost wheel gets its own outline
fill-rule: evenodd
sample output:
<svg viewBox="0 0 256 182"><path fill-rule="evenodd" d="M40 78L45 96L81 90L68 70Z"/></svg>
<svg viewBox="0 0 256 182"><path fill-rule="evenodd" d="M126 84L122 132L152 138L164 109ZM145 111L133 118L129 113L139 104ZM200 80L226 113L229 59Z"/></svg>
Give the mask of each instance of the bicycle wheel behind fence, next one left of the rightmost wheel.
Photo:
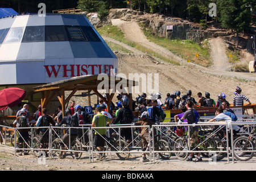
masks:
<svg viewBox="0 0 256 182"><path fill-rule="evenodd" d="M204 149L207 151L220 151L220 152L202 152L202 155L206 158L213 158L221 160L225 157L226 153L221 152L226 150L225 144L218 138L210 138L203 143Z"/></svg>

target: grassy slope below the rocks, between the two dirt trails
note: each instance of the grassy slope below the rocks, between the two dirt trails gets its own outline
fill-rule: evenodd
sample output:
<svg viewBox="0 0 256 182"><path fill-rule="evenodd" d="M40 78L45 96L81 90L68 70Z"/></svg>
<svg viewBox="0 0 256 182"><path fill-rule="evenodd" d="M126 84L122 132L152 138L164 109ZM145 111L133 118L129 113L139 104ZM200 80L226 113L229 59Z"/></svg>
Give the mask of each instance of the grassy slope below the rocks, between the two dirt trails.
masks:
<svg viewBox="0 0 256 182"><path fill-rule="evenodd" d="M181 56L183 59L191 61L208 67L212 64L210 60L210 50L208 42L205 41L203 44L199 45L192 40L171 40L167 38L162 38L156 34L150 27L146 27L143 23L140 24L143 27L144 34L147 39L158 44L159 46L165 47L170 50L175 55ZM196 54L199 56L196 57Z"/></svg>

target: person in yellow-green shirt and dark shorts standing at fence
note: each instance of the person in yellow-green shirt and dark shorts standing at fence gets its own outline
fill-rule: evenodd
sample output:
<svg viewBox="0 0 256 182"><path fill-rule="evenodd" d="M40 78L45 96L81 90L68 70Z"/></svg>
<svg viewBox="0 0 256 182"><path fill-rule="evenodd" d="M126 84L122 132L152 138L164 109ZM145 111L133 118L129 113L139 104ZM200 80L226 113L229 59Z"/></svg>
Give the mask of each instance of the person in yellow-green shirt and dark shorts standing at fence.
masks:
<svg viewBox="0 0 256 182"><path fill-rule="evenodd" d="M94 146L96 146L98 151L102 151L105 144L106 129L97 129L97 127L106 127L107 125L110 125L112 122L111 119L109 119L106 115L101 113L100 107L96 107L95 112L96 115L94 115L92 120L92 127L96 127L96 129L94 129ZM97 160L103 160L105 158L105 155L100 153L100 157Z"/></svg>

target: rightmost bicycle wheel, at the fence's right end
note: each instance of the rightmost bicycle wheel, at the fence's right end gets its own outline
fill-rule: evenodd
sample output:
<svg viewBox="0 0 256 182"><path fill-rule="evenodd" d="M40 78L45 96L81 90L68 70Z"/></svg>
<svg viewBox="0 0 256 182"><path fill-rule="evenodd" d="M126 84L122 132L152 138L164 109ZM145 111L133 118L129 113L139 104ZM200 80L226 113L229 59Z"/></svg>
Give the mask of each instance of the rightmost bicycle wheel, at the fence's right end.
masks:
<svg viewBox="0 0 256 182"><path fill-rule="evenodd" d="M234 140L234 157L238 160L247 161L253 158L254 152L250 150L255 150L255 145L253 140L248 139L248 137L238 137ZM249 152L242 152L249 151Z"/></svg>

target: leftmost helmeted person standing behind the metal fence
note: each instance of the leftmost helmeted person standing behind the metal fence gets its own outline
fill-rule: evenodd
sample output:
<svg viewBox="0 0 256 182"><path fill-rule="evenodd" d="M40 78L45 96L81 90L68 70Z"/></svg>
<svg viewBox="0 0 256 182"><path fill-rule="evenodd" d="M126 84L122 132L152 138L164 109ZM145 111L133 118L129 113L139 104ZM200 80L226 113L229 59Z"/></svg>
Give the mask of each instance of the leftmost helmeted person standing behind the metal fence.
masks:
<svg viewBox="0 0 256 182"><path fill-rule="evenodd" d="M28 137L28 131L30 129L22 129L22 127L28 127L28 123L36 123L34 119L27 117L27 110L22 108L20 109L20 115L15 119L13 122L13 126L19 128L19 137L18 137L18 143L16 143L16 148L27 148L27 144L29 137ZM22 155L22 150L19 151L19 155ZM24 150L24 155L28 155L27 151Z"/></svg>

